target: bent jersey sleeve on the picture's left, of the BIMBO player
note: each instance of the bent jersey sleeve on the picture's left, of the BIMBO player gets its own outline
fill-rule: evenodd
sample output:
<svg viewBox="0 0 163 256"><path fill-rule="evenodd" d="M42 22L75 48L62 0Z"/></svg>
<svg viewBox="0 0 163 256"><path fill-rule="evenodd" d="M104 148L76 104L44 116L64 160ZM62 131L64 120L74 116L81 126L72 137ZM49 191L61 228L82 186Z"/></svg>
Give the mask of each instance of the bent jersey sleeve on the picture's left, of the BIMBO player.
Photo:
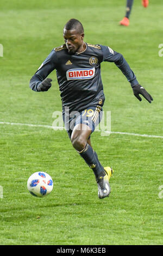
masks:
<svg viewBox="0 0 163 256"><path fill-rule="evenodd" d="M54 49L48 57L41 64L40 68L35 72L34 76L30 79L29 87L38 92L39 84L57 67L57 56Z"/></svg>

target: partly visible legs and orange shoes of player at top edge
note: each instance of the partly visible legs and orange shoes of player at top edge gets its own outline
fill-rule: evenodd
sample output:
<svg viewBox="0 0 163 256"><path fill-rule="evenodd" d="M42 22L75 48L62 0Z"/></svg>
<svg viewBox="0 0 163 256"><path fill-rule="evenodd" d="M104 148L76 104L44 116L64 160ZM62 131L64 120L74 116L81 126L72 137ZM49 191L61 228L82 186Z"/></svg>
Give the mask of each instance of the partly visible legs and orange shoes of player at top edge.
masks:
<svg viewBox="0 0 163 256"><path fill-rule="evenodd" d="M131 9L133 7L134 0L127 0L126 3L126 16L123 18L123 20L120 21L120 25L122 26L129 26L129 16L131 13ZM143 7L148 7L149 1L148 0L142 0L141 1Z"/></svg>

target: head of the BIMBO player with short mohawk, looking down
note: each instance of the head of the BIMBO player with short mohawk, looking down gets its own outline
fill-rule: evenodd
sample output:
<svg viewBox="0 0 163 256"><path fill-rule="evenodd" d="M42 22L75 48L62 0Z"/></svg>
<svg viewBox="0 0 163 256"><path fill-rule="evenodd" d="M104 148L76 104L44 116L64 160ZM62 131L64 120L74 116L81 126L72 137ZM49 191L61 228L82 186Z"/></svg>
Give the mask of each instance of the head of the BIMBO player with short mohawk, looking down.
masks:
<svg viewBox="0 0 163 256"><path fill-rule="evenodd" d="M84 28L80 21L69 20L64 27L64 39L68 52L75 53L83 47Z"/></svg>

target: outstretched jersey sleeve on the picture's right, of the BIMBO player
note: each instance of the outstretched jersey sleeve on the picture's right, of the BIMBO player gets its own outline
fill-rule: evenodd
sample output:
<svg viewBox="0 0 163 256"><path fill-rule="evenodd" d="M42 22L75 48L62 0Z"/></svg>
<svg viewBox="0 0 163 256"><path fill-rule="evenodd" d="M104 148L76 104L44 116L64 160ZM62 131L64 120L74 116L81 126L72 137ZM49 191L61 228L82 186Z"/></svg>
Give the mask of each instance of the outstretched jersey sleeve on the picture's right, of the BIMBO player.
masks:
<svg viewBox="0 0 163 256"><path fill-rule="evenodd" d="M109 46L101 45L101 48L103 52L103 62L114 62L116 66L122 71L124 76L126 76L128 82L131 84L131 87L139 84L133 70L130 69L129 64L121 53L112 50Z"/></svg>

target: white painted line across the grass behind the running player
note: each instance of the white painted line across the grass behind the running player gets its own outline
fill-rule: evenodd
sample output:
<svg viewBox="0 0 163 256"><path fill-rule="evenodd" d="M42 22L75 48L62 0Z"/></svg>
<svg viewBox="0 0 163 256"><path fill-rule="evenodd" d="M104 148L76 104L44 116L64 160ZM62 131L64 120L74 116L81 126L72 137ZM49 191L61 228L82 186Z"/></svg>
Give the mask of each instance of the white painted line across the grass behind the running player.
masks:
<svg viewBox="0 0 163 256"><path fill-rule="evenodd" d="M49 126L49 125L40 125L40 124L22 124L22 123L8 123L8 122L0 122L0 124L7 124L7 125L22 125L22 126L32 126L32 127L45 127L53 130L64 130L64 127L59 126ZM95 130L96 131L96 130ZM140 136L140 137L148 137L148 138L163 138L163 136L157 135L147 135L147 134L139 134L139 133L129 133L129 132L109 132L109 131L101 131L97 130L98 132L106 132L106 133L114 133L114 134L121 134L121 135L131 135L131 136Z"/></svg>

